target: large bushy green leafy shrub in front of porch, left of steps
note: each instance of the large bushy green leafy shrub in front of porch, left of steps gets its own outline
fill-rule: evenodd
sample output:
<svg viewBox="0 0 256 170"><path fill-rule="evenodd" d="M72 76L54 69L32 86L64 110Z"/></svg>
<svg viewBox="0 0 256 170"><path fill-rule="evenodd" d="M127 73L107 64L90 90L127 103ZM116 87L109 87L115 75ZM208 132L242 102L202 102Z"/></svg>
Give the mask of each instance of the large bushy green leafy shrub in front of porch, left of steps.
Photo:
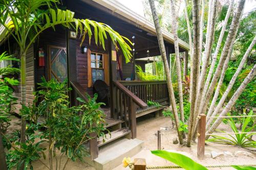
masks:
<svg viewBox="0 0 256 170"><path fill-rule="evenodd" d="M67 81L62 83L51 79L47 82L42 78L40 87L36 92L38 98L43 100L38 104L38 116L44 116L45 122L41 125L46 127L43 136L47 139L49 148L49 169L53 169L53 159L56 159L55 169L65 169L68 161L82 160L83 156L89 156L89 151L83 143L97 136L104 136L104 113L99 109L103 103L96 103L97 95L84 101L79 106L69 107L67 93L71 90L67 87ZM26 112L28 114L33 112ZM31 117L24 115L24 117ZM95 134L91 136L91 134ZM60 151L59 160L57 150ZM68 159L61 167L61 158L65 154Z"/></svg>

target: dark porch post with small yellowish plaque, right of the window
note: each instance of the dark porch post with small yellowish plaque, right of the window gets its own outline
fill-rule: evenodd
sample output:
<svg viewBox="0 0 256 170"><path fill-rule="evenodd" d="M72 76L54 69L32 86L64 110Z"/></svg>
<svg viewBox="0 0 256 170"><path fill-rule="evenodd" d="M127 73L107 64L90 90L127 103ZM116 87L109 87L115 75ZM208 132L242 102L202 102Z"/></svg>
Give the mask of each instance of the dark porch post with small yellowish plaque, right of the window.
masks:
<svg viewBox="0 0 256 170"><path fill-rule="evenodd" d="M117 81L117 72L116 72L116 46L115 44L110 40L109 41L109 58L110 58L110 93L111 93L111 118L117 119L117 113L116 113L116 90L114 88L113 81Z"/></svg>

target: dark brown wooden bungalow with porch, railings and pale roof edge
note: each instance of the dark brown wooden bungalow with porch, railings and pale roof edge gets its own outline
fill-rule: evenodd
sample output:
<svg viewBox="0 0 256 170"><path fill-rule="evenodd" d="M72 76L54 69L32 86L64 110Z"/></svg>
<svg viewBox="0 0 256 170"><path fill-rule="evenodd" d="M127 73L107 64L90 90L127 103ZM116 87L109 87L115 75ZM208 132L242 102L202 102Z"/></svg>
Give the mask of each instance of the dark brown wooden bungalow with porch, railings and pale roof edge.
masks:
<svg viewBox="0 0 256 170"><path fill-rule="evenodd" d="M114 0L73 0L62 1L63 6L75 12L77 18L90 18L111 26L120 35L134 40L135 53L131 62L125 63L120 51L116 52L114 44L108 39L105 41L105 50L97 46L92 39L81 40L74 32L64 27L56 30L46 30L39 35L38 41L30 47L27 66L27 104L32 104L33 91L37 83L44 76L47 80L52 78L58 81L69 80L72 87L70 100L77 105L76 97L85 98L84 93L93 94L94 82L102 80L109 89L109 107L102 108L106 113L106 128L111 130L111 137L105 140L95 138L90 141L91 158L98 157L98 148L120 137L136 138L136 117L156 112L162 108L147 107L147 101L154 101L168 105L169 96L165 81L142 82L135 80L135 64L143 67L147 61L136 60L145 57L160 55L158 40L154 24L138 15L131 9L124 7ZM3 30L0 29L0 31ZM174 36L163 31L166 53L175 53ZM3 35L3 34L2 34ZM132 39L132 37L135 37ZM1 39L1 36L0 36ZM189 45L179 39L180 52L188 51ZM10 49L9 49L10 46ZM8 49L8 50L7 50ZM17 53L15 43L1 42L1 52L11 51ZM148 54L147 51L150 53ZM44 54L44 55L42 55ZM40 63L39 55L44 57L45 64ZM125 81L126 80L126 81ZM127 81L130 80L130 81ZM101 90L105 90L102 88ZM97 92L101 92L99 89ZM14 95L21 100L20 86ZM21 107L16 105L16 111Z"/></svg>

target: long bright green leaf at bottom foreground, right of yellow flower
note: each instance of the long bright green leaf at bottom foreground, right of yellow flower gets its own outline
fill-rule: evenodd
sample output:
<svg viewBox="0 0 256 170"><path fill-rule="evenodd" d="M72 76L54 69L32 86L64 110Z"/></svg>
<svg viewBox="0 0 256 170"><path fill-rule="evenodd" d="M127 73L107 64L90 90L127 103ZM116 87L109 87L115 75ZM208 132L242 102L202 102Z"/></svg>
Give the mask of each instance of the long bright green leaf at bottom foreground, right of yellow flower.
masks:
<svg viewBox="0 0 256 170"><path fill-rule="evenodd" d="M167 152L162 150L151 151L151 153L165 160L173 162L186 170L207 170L207 168L203 165L179 153Z"/></svg>

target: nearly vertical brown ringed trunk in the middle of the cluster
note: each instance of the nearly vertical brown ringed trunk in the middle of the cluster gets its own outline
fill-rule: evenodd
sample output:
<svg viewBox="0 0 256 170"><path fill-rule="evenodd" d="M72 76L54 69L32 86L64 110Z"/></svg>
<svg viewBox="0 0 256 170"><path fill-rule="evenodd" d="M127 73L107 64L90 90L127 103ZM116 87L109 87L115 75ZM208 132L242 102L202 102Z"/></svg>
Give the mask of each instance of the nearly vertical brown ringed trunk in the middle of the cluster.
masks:
<svg viewBox="0 0 256 170"><path fill-rule="evenodd" d="M194 116L195 116L195 103L196 103L196 90L198 84L198 65L200 65L200 54L199 54L199 39L200 39L200 0L193 0L193 64L191 65L191 70L193 74L191 75L191 95L190 95L190 116L188 120L188 136L187 136L187 147L191 146L192 133L194 129Z"/></svg>

